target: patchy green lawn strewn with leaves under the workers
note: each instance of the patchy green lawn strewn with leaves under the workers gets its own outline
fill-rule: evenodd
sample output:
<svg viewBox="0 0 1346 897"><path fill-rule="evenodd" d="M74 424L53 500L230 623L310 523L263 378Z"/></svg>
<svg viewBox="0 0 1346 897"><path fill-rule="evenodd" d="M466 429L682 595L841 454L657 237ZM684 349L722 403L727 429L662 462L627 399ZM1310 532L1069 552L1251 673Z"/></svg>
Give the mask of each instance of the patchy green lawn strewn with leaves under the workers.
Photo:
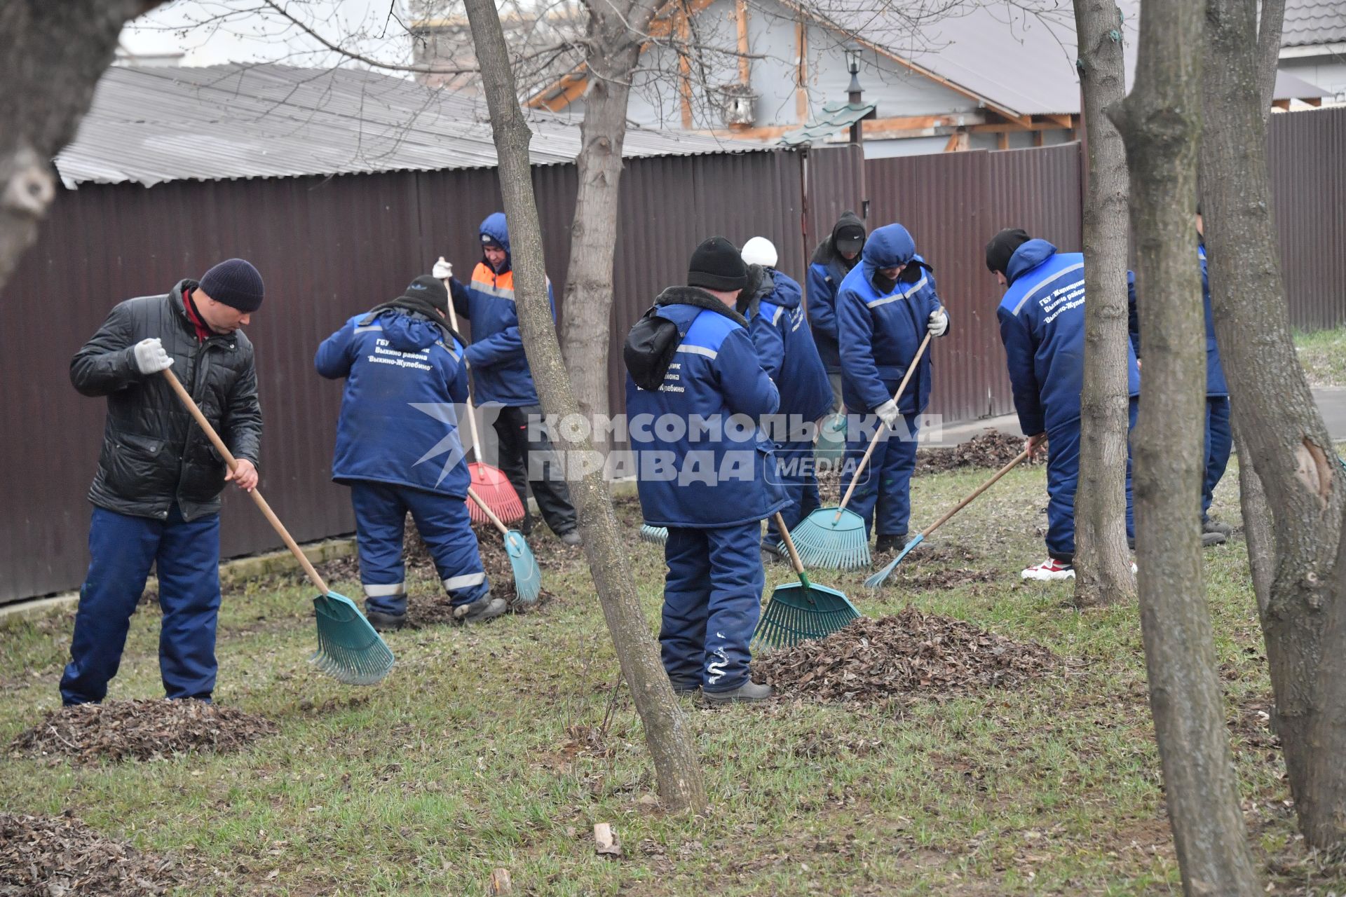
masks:
<svg viewBox="0 0 1346 897"><path fill-rule="evenodd" d="M914 526L970 491L984 471L919 477ZM1217 515L1237 522L1237 477ZM234 756L44 767L0 761L0 806L73 811L105 834L171 851L199 870L201 894L482 894L495 867L528 894L1176 894L1135 607L1078 613L1067 584L1022 584L1043 555L1042 468L1011 473L918 547L880 596L867 572L822 573L867 615L907 601L1036 639L1077 659L1069 675L1018 691L905 709L704 710L685 702L711 810L651 807L653 771L587 570L544 570L557 598L472 628L396 632L398 666L377 687L314 672L310 594L299 580L250 584L225 600L222 703L281 733ZM662 554L635 539L639 593L657 621ZM534 543L540 541L534 539ZM903 585L905 569L962 547L1000 573L944 592ZM922 553L927 557L922 559ZM1209 604L1229 717L1268 695L1241 539L1209 550ZM911 565L909 568L909 565ZM785 568L770 581L790 578ZM332 588L358 593L354 582ZM436 584L416 586L432 594ZM70 615L0 624L0 741L58 702ZM159 686L157 617L132 621L113 698ZM602 749L572 736L599 726ZM1295 841L1283 765L1265 733L1234 736L1249 838L1276 890L1314 869ZM1249 741L1253 738L1253 741ZM610 822L625 857L594 854ZM1310 890L1343 889L1319 874Z"/></svg>

